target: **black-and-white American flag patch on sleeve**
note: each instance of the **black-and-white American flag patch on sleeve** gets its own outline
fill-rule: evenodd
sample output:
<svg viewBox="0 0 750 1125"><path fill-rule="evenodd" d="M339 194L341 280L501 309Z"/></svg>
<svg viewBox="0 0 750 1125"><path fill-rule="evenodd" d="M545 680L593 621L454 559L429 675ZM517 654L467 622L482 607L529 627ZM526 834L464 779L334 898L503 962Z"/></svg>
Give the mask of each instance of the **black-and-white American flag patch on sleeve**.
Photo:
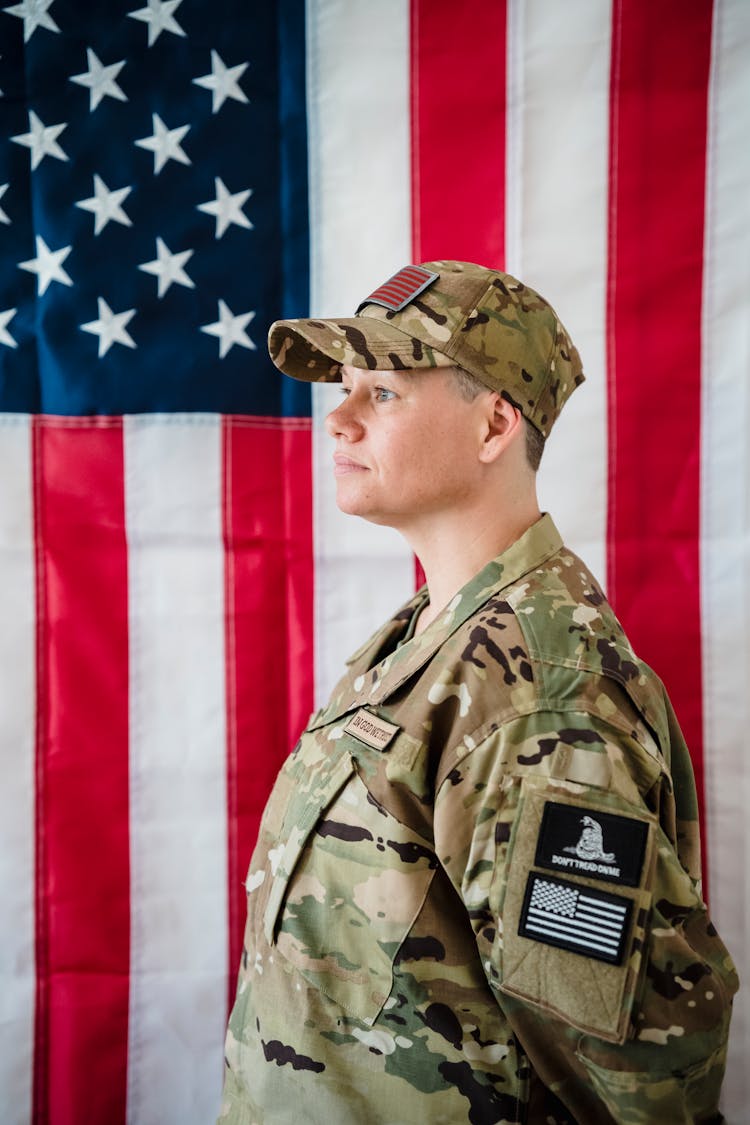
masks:
<svg viewBox="0 0 750 1125"><path fill-rule="evenodd" d="M611 965L622 964L633 903L621 894L532 872L518 933Z"/></svg>

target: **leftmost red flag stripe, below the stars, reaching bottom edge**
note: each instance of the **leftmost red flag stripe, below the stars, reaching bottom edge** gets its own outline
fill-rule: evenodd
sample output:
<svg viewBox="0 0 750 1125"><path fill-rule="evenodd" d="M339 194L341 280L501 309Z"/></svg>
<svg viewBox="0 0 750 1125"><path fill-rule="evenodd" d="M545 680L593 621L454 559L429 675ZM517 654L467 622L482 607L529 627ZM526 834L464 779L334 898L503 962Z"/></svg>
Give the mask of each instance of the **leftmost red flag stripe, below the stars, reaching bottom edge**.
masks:
<svg viewBox="0 0 750 1125"><path fill-rule="evenodd" d="M37 420L34 469L34 1120L117 1125L125 1120L130 936L120 421Z"/></svg>

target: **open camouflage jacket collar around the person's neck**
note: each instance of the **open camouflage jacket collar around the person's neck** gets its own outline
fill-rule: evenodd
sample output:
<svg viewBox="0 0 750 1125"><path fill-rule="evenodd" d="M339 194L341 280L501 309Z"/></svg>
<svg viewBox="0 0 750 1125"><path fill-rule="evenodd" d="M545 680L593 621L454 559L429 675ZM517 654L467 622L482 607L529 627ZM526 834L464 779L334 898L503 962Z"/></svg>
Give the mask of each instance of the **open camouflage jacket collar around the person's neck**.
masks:
<svg viewBox="0 0 750 1125"><path fill-rule="evenodd" d="M473 613L498 592L512 586L530 570L551 558L562 547L552 518L544 514L501 555L493 559L463 586L443 612L417 637L389 651L372 664L387 641L398 642L406 632L415 610L427 601L422 587L399 612L378 630L347 660L349 674L334 690L328 704L310 721L309 729L323 727L349 711L361 706L378 706L400 685L419 670Z"/></svg>

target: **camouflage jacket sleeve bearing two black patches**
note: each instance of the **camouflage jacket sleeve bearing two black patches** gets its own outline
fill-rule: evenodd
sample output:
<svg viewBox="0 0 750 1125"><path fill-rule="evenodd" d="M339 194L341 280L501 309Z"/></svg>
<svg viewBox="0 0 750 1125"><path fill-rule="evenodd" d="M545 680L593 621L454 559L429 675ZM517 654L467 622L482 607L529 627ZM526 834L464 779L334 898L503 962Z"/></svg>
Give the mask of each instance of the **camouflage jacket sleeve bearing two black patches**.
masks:
<svg viewBox="0 0 750 1125"><path fill-rule="evenodd" d="M437 852L489 984L581 1122L722 1119L738 981L676 824L659 756L580 712L503 724L437 791Z"/></svg>

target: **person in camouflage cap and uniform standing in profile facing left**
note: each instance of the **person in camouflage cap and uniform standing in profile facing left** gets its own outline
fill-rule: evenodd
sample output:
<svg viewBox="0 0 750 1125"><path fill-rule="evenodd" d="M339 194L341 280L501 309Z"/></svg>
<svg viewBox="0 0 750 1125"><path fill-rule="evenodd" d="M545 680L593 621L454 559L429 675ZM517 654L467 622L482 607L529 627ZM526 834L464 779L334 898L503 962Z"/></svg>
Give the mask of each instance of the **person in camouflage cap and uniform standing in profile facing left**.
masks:
<svg viewBox="0 0 750 1125"><path fill-rule="evenodd" d="M510 276L437 261L269 346L341 381L337 504L400 531L426 586L271 793L219 1119L720 1122L737 976L688 752L536 500L584 379L568 333Z"/></svg>

